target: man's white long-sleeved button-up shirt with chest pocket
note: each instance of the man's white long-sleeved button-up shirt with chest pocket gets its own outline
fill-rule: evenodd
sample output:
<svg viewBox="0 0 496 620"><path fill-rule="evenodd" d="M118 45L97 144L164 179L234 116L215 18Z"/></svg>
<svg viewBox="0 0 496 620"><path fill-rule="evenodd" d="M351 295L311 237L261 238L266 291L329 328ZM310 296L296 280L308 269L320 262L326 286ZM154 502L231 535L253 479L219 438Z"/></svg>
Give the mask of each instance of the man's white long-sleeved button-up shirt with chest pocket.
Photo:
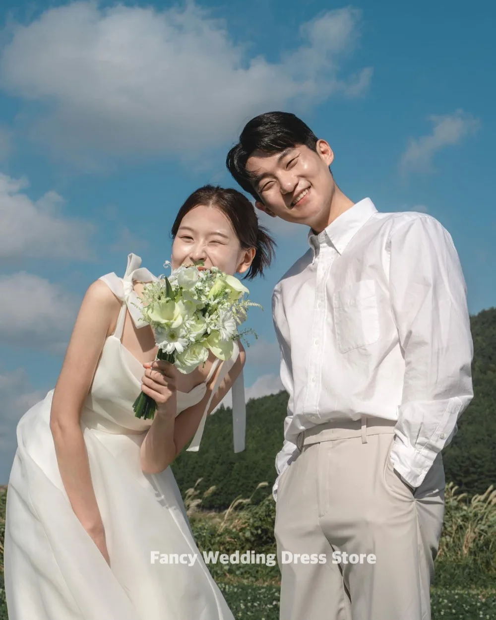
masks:
<svg viewBox="0 0 496 620"><path fill-rule="evenodd" d="M425 213L342 213L277 283L272 312L289 394L277 480L299 433L361 415L397 420L394 469L418 487L473 397L466 283Z"/></svg>

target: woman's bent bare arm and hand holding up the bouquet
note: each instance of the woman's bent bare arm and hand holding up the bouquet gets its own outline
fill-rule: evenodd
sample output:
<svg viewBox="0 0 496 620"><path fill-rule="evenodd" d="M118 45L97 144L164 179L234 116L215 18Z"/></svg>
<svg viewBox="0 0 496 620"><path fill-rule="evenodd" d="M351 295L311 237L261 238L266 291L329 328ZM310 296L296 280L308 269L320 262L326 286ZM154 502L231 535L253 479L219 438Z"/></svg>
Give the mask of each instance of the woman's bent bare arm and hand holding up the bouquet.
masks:
<svg viewBox="0 0 496 620"><path fill-rule="evenodd" d="M208 407L209 415L229 392L237 376L241 373L245 361L246 353L240 342L239 356L231 370L229 370L229 373L226 374L221 381L216 393L213 395L212 401ZM150 365L145 364L144 366L145 368L150 368ZM177 417L175 417L177 407L175 387L174 396L170 396L166 401L169 402L169 405L161 405L160 402L157 402L157 411L153 423L141 444L141 468L144 473L158 474L164 471L164 469L174 461L184 446L187 445L188 441L192 440L200 425L201 417L203 417L206 404L210 399L213 386L215 385L218 373L221 371L221 367L222 365L219 364L216 373L214 373L214 376L207 384L203 399L201 399L198 404L182 411ZM164 373L167 374L167 362L155 361L153 362L152 368L162 368L164 369ZM159 373L153 373L153 375L156 376L159 382ZM149 386L152 386L154 383L153 388L149 388L154 390L154 394L147 392L148 394L158 399L160 399L159 394L166 394L167 388L164 387L163 384L155 383L151 378L149 381Z"/></svg>

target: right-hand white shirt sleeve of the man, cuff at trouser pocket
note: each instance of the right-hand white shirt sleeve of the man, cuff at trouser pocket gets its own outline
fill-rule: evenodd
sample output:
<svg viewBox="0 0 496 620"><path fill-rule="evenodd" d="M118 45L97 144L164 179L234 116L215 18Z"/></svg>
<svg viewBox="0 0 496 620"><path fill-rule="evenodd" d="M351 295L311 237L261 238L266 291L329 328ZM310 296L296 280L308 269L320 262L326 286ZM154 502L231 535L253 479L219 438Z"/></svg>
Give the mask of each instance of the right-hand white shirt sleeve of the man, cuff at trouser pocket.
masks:
<svg viewBox="0 0 496 620"><path fill-rule="evenodd" d="M394 469L418 487L473 397L467 288L448 231L428 215L392 229L391 311L405 360Z"/></svg>

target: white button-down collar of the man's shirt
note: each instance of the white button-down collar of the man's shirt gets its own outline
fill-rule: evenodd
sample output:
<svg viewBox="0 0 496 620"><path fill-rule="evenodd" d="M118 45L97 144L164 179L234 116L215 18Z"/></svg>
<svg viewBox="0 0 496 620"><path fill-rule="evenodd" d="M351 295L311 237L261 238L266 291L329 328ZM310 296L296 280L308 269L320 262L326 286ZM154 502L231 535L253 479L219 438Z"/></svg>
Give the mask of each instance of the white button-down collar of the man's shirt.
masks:
<svg viewBox="0 0 496 620"><path fill-rule="evenodd" d="M329 226L324 228L322 232L319 232L319 234L315 234L312 232L312 229L310 229L308 232L308 242L313 252L312 263L315 260L319 247L322 246L322 244L327 244L329 241L337 252L342 254L355 234L374 213L377 213L374 203L370 198L363 198L363 200L355 203L355 205L337 216L337 218L332 221Z"/></svg>

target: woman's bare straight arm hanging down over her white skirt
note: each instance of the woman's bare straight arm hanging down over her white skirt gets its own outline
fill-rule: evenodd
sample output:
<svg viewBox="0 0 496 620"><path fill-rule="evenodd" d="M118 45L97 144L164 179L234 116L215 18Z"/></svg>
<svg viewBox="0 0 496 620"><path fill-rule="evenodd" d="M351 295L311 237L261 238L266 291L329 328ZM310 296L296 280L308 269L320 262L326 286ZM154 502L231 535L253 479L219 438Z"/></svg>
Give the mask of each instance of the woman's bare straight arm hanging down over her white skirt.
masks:
<svg viewBox="0 0 496 620"><path fill-rule="evenodd" d="M102 518L91 481L80 418L109 327L119 308L120 301L104 282L97 280L89 286L55 386L50 414L50 429L64 488L74 513L104 555ZM108 561L108 557L106 559Z"/></svg>

